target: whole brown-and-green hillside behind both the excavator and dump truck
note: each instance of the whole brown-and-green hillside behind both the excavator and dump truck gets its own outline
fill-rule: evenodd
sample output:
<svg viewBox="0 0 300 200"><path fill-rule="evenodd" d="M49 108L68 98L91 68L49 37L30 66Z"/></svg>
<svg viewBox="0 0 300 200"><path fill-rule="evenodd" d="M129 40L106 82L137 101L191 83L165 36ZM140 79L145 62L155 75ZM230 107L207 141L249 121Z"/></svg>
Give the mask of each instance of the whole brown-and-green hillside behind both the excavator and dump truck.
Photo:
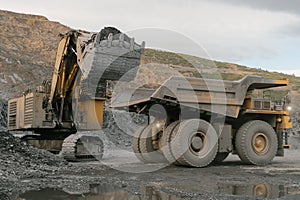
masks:
<svg viewBox="0 0 300 200"><path fill-rule="evenodd" d="M104 25L99 25L99 30ZM59 34L70 30L43 16L18 14L0 10L0 97L7 99L34 88L50 79ZM147 42L147 41L146 41ZM195 56L146 49L140 81L159 83L170 75L238 80L245 75L290 80L290 90L297 91L300 78L232 63L211 61ZM159 75L159 76L158 76ZM219 76L221 75L221 77ZM293 95L298 95L293 92Z"/></svg>

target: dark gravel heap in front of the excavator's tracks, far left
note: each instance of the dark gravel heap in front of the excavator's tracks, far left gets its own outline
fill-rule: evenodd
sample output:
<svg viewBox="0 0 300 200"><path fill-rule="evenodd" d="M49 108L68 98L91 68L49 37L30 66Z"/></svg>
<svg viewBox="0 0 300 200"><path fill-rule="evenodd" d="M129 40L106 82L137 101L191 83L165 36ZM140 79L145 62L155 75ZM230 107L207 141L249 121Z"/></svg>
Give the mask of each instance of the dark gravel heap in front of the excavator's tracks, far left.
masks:
<svg viewBox="0 0 300 200"><path fill-rule="evenodd" d="M42 171L55 171L67 165L63 158L29 146L7 132L0 132L0 163L1 179L39 176Z"/></svg>

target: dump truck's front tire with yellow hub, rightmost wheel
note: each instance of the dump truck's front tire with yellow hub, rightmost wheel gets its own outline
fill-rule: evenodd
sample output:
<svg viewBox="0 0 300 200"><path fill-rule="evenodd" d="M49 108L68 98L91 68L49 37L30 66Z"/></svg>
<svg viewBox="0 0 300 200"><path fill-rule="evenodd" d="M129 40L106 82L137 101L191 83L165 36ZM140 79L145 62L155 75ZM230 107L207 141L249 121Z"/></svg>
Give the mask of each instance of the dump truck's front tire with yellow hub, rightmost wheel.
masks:
<svg viewBox="0 0 300 200"><path fill-rule="evenodd" d="M242 125L235 137L240 159L247 164L266 165L277 153L278 140L273 127L265 121L253 120Z"/></svg>

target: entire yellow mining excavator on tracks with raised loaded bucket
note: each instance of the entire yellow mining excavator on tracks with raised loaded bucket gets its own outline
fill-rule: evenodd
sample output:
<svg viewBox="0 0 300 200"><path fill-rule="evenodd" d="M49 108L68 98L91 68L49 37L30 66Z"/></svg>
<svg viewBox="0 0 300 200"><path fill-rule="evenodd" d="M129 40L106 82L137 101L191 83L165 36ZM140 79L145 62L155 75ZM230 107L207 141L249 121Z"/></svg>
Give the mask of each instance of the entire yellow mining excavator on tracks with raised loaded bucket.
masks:
<svg viewBox="0 0 300 200"><path fill-rule="evenodd" d="M109 83L134 78L144 45L113 27L61 35L52 80L9 99L8 130L67 160L101 158L101 139L77 131L102 128Z"/></svg>

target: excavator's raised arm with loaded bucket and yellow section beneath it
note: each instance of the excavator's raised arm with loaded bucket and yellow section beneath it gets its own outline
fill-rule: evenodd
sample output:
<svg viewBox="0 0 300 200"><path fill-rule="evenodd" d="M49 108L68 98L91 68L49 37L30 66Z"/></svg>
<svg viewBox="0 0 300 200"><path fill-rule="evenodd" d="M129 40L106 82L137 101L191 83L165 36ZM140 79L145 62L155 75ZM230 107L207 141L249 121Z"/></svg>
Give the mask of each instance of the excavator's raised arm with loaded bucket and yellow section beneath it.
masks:
<svg viewBox="0 0 300 200"><path fill-rule="evenodd" d="M66 33L58 45L47 112L59 126L72 122L76 129L101 128L107 81L124 74L134 79L143 48L144 43L111 27Z"/></svg>

